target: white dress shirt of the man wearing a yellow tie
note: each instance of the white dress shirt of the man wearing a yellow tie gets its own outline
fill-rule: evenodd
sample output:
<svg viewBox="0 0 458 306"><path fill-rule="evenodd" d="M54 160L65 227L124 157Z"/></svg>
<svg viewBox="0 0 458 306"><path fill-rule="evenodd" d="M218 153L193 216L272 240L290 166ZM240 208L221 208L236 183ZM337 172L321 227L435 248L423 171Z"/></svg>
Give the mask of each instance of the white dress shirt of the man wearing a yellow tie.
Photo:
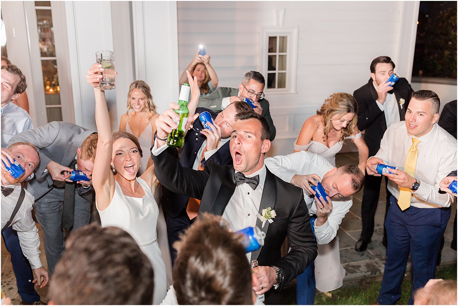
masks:
<svg viewBox="0 0 458 306"><path fill-rule="evenodd" d="M434 124L429 133L414 137L407 133L405 121L389 126L383 135L380 149L375 155L390 166L404 170L407 152L412 146L412 139L420 139L417 145L418 158L415 167L415 178L420 180L420 187L412 192L410 206L416 208L449 207L453 196L440 194L439 182L452 170L457 168L457 140L442 127ZM398 184L388 180L388 190L398 199L401 189Z"/></svg>

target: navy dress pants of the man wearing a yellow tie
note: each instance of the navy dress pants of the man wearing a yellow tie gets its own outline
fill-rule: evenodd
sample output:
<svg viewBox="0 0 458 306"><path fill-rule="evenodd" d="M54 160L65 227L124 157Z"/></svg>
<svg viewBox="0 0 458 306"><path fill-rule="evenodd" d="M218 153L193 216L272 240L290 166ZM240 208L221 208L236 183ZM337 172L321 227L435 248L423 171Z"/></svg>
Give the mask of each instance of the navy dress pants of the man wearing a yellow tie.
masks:
<svg viewBox="0 0 458 306"><path fill-rule="evenodd" d="M394 305L399 300L409 253L413 273L409 305L413 305L414 291L424 287L428 280L434 279L437 253L451 212L450 207L412 206L401 211L396 198L390 197L390 207L385 219L387 256L382 288L377 299L380 305Z"/></svg>

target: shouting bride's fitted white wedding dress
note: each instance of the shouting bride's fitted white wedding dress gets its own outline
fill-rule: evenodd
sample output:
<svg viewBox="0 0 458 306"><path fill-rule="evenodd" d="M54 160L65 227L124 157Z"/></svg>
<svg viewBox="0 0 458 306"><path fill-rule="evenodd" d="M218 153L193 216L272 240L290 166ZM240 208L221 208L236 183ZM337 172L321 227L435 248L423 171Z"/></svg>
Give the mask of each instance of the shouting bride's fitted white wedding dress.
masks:
<svg viewBox="0 0 458 306"><path fill-rule="evenodd" d="M97 207L97 210L102 226L116 226L128 232L151 261L154 270L153 304L159 305L167 292L167 276L156 235L158 204L154 200L154 191L147 182L139 177L136 180L145 191L143 197L125 196L121 186L115 181L114 196L109 206L104 210Z"/></svg>

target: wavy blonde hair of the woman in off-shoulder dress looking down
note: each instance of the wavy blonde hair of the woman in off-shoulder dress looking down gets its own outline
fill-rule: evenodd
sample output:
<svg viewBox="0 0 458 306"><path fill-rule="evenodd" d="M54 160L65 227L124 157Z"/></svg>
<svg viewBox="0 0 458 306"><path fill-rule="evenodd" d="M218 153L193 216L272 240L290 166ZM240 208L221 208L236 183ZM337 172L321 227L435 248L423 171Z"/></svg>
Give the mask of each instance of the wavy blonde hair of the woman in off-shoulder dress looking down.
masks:
<svg viewBox="0 0 458 306"><path fill-rule="evenodd" d="M353 113L353 119L349 121L346 127L342 128L340 140L346 140L346 137L354 135L358 131L358 103L349 93L333 93L326 100L324 100L321 109L316 111L317 115L323 118L324 137L327 140L327 133L331 130L331 120L338 120L342 116ZM334 118L334 119L332 119Z"/></svg>

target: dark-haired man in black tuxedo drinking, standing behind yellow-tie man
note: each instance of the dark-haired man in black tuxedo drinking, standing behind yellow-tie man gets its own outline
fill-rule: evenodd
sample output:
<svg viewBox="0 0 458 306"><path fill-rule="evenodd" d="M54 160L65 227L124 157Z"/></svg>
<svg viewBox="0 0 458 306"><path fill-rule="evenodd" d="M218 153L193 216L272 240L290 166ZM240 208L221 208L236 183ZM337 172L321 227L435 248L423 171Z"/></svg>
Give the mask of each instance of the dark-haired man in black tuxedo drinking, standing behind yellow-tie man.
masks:
<svg viewBox="0 0 458 306"><path fill-rule="evenodd" d="M364 141L369 148L369 156L374 156L380 149L380 142L387 127L404 120L405 110L409 105L412 88L409 82L401 77L398 82L389 86L388 78L393 74L394 63L388 56L379 56L372 60L369 82L353 93L358 102L358 128L365 131ZM387 183L387 177L385 177ZM374 216L380 195L381 176L365 175L364 194L361 205L362 230L356 242L356 251L365 251L371 242L374 232ZM387 208L390 193L387 190ZM385 213L386 215L386 213ZM383 242L386 246L386 232Z"/></svg>

